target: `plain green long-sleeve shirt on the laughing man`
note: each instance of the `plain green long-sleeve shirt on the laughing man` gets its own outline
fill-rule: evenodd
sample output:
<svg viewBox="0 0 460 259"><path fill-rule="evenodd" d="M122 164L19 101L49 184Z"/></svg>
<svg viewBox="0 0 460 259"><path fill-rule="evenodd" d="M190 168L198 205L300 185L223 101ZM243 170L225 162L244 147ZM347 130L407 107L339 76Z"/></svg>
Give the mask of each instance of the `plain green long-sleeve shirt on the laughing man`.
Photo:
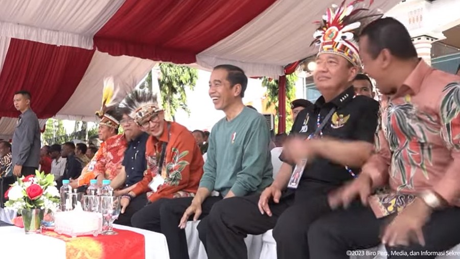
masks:
<svg viewBox="0 0 460 259"><path fill-rule="evenodd" d="M232 121L220 120L209 137L200 187L222 196L262 192L273 181L270 132L265 117L244 107Z"/></svg>

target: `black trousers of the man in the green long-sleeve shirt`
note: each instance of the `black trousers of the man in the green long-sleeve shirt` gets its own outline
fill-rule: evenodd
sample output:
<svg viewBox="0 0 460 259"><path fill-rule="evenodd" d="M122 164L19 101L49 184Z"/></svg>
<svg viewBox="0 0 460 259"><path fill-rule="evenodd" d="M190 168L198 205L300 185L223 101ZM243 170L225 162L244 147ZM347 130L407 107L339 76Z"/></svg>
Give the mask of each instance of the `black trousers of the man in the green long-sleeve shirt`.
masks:
<svg viewBox="0 0 460 259"><path fill-rule="evenodd" d="M189 258L189 249L184 229L178 227L180 219L185 210L192 203L193 198L160 199L149 203L147 206L137 211L132 218L133 227L143 228L150 231L163 233L168 242L169 256L171 259ZM222 197L208 197L201 204L200 224L206 220L213 205L222 200ZM192 217L189 220L193 219ZM204 224L205 225L205 224Z"/></svg>

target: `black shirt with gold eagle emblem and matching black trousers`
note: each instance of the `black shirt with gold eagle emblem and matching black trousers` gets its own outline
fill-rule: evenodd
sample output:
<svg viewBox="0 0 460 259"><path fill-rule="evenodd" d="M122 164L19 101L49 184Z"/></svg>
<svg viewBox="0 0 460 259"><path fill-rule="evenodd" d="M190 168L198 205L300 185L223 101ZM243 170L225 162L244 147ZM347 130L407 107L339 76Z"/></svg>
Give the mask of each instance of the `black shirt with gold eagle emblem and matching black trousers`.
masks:
<svg viewBox="0 0 460 259"><path fill-rule="evenodd" d="M307 138L318 126L324 126L317 132L317 137L322 132L332 138L373 143L378 109L377 101L364 96L355 97L353 87L350 87L328 103L320 97L314 106L302 110L291 134L302 134ZM283 160L283 154L280 159ZM303 258L308 254L309 225L331 211L327 193L353 179L352 174L357 173L359 169L348 169L327 159L316 158L305 168L297 189L287 189L279 203L269 203L271 217L260 213L260 195L216 203L208 216L208 229L200 231L208 257L247 258L246 234L257 235L273 229L279 259Z"/></svg>

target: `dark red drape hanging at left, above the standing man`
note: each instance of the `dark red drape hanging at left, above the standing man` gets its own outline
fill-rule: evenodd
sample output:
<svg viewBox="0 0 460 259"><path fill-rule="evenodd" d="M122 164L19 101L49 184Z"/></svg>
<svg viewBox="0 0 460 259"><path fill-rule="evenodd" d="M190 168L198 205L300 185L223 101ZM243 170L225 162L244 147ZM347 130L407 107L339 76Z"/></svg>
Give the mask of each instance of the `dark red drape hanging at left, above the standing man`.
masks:
<svg viewBox="0 0 460 259"><path fill-rule="evenodd" d="M74 93L93 54L94 50L11 39L0 74L0 116L19 115L13 106L19 90L31 93L39 118L54 116Z"/></svg>

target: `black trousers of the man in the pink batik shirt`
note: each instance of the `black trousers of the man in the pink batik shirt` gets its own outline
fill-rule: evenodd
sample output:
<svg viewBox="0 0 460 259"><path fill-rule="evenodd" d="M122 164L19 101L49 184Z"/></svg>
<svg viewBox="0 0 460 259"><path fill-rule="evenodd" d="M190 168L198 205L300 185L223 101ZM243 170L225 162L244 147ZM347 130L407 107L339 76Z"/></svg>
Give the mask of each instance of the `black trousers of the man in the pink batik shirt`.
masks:
<svg viewBox="0 0 460 259"><path fill-rule="evenodd" d="M433 252L445 251L460 243L458 219L458 207L435 211L423 227L425 246L413 244L407 247L386 247L388 258L435 258ZM308 232L310 258L349 259L347 250L377 246L380 244L382 230L391 220L376 219L372 210L362 205L334 211L311 225ZM422 255L422 251L432 254Z"/></svg>

